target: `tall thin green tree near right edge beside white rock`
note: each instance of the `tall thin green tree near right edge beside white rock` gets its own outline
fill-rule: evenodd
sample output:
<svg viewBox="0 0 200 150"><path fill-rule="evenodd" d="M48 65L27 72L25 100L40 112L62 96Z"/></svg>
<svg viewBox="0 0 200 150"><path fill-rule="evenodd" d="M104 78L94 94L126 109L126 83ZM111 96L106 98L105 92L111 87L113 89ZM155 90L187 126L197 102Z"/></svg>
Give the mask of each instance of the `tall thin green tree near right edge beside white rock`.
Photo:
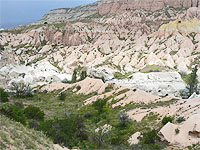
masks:
<svg viewBox="0 0 200 150"><path fill-rule="evenodd" d="M191 96L194 92L197 91L198 85L198 76L197 76L197 65L192 69L192 73L188 74L186 77L186 88L189 90L189 95Z"/></svg>

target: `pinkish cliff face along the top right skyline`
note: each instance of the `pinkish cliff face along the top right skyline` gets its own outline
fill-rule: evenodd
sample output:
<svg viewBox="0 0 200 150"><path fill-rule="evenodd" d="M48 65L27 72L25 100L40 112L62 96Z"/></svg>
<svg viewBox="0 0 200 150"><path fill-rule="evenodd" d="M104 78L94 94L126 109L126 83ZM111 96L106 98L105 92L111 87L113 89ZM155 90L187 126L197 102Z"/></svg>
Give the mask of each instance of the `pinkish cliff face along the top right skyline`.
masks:
<svg viewBox="0 0 200 150"><path fill-rule="evenodd" d="M175 8L197 7L197 0L103 0L97 8L101 15L108 13L122 13L133 9L157 11L166 6Z"/></svg>

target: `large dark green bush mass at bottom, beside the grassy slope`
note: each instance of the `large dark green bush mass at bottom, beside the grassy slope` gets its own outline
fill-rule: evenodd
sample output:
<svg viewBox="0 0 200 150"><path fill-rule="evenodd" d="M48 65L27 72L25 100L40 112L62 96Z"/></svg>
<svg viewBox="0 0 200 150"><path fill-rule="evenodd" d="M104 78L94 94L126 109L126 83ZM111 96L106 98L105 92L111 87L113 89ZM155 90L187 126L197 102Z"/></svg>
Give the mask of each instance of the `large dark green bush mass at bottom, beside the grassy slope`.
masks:
<svg viewBox="0 0 200 150"><path fill-rule="evenodd" d="M87 139L84 122L79 116L69 116L66 119L46 120L38 130L44 131L54 143L72 148Z"/></svg>

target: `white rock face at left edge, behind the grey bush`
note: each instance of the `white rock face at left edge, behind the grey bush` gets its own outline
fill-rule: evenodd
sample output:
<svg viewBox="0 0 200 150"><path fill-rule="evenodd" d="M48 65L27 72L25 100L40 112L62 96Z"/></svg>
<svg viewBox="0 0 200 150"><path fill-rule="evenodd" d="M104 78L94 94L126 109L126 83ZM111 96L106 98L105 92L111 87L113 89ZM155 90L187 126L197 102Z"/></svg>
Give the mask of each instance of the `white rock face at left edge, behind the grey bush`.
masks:
<svg viewBox="0 0 200 150"><path fill-rule="evenodd" d="M2 88L7 87L11 82L24 81L34 87L64 79L71 80L71 75L59 73L58 69L47 61L32 66L7 65L0 68L0 75L4 77L0 84Z"/></svg>

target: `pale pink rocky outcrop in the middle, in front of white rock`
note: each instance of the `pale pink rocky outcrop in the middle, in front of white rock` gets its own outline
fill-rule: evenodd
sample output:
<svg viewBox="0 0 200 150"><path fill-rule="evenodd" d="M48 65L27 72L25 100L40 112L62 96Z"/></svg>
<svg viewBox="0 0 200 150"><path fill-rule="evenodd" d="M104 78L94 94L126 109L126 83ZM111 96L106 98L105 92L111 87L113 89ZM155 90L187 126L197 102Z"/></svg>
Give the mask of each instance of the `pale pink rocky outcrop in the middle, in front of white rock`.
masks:
<svg viewBox="0 0 200 150"><path fill-rule="evenodd" d="M74 92L76 92L77 94L90 94L93 92L97 93L96 95L87 99L84 102L84 105L92 104L98 99L107 98L109 96L114 96L113 99L109 100L109 103L112 102L113 108L117 106L125 106L131 103L149 104L171 99L171 97L165 97L164 99L162 99L160 96L155 96L145 91L132 89L119 84L104 83L101 79L93 79L89 77L87 77L83 81L74 84L54 82L52 84L44 86L42 90L54 91L62 89L63 91L66 91L69 88L77 86L80 87L80 90L78 90L77 88L74 89Z"/></svg>

